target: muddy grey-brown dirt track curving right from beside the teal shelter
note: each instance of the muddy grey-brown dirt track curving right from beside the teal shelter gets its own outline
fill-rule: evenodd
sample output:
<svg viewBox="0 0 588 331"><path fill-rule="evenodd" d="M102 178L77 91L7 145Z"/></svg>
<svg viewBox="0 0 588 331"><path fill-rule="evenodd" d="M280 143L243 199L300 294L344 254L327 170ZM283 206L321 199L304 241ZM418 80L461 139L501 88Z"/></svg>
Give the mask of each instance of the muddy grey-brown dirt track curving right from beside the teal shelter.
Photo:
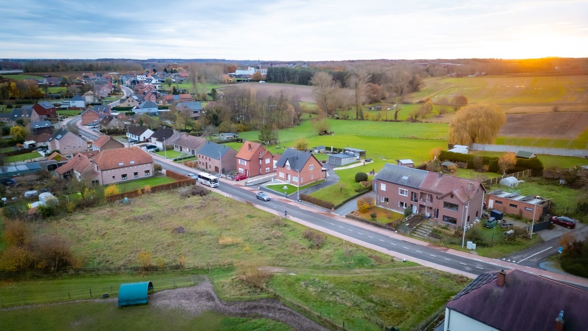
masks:
<svg viewBox="0 0 588 331"><path fill-rule="evenodd" d="M154 307L179 308L194 315L206 310L232 316L258 315L287 323L295 330L329 330L276 299L222 301L216 296L212 283L208 279L195 286L153 293L149 297L149 304Z"/></svg>

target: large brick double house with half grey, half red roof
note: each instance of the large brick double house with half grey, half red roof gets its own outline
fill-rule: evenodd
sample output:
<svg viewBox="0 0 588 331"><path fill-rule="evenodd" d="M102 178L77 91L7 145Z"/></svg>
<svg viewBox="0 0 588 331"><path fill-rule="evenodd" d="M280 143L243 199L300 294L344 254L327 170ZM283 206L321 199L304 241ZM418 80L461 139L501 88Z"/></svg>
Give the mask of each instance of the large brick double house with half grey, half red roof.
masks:
<svg viewBox="0 0 588 331"><path fill-rule="evenodd" d="M386 164L372 181L376 205L428 214L439 224L463 227L482 216L486 189L476 180ZM465 211L467 210L467 213Z"/></svg>

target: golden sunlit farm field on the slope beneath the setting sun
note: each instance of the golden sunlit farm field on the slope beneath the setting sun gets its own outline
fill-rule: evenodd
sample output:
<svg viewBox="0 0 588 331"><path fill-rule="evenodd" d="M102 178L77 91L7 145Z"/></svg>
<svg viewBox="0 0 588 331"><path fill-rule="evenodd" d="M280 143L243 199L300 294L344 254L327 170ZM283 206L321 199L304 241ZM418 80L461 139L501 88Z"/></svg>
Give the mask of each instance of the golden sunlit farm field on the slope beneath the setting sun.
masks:
<svg viewBox="0 0 588 331"><path fill-rule="evenodd" d="M446 87L446 84L450 85ZM586 86L588 86L587 75L432 78L425 80L423 88L425 93L430 93L417 92L411 99L417 101L429 96L436 100L463 94L470 102L493 102L496 104L580 103L588 100Z"/></svg>

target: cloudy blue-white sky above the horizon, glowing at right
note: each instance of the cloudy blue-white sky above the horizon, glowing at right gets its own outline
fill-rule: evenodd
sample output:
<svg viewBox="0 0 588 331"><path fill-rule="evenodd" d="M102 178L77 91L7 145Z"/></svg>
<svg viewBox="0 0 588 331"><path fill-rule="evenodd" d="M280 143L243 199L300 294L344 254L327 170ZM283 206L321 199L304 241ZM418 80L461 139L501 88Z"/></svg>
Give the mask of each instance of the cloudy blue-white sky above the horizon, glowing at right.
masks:
<svg viewBox="0 0 588 331"><path fill-rule="evenodd" d="M588 0L0 0L0 58L588 57Z"/></svg>

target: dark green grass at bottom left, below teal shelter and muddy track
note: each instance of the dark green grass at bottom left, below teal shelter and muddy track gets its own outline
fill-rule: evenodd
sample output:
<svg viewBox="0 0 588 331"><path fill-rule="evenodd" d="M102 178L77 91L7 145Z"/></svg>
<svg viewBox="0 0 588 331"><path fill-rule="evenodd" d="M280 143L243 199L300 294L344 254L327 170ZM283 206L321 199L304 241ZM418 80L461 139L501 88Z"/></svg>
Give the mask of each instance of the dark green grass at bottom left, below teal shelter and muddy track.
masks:
<svg viewBox="0 0 588 331"><path fill-rule="evenodd" d="M215 312L193 316L181 309L153 306L118 309L115 303L98 302L2 312L0 323L6 330L292 330L290 326L270 319L229 317Z"/></svg>

